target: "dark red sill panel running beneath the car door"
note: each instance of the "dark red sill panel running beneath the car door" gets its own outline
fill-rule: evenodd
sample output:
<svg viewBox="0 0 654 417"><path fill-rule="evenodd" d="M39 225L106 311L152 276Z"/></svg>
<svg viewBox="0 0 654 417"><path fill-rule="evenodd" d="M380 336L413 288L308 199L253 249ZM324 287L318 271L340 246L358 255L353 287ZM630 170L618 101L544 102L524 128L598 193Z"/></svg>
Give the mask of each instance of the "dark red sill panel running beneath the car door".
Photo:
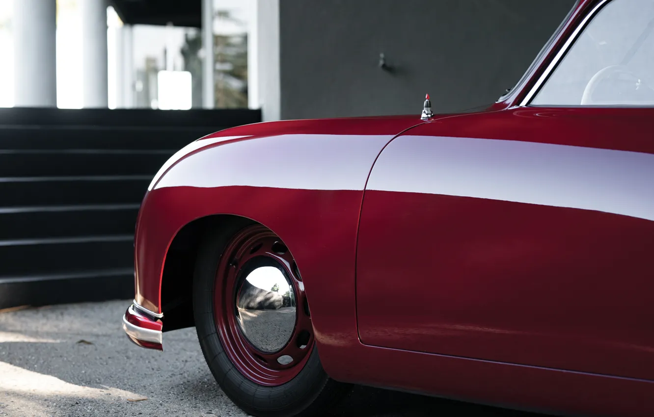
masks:
<svg viewBox="0 0 654 417"><path fill-rule="evenodd" d="M366 345L339 359L330 376L369 386L557 416L654 415L651 381Z"/></svg>

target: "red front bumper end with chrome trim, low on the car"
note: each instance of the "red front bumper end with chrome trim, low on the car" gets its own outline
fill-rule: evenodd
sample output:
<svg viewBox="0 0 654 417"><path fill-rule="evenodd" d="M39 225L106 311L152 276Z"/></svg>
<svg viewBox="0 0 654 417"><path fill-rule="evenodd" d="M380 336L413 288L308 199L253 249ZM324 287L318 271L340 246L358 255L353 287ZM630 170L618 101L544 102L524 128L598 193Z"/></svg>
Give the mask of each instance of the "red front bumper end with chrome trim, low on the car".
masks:
<svg viewBox="0 0 654 417"><path fill-rule="evenodd" d="M129 340L143 348L163 350L163 314L141 307L136 301L123 316L123 330Z"/></svg>

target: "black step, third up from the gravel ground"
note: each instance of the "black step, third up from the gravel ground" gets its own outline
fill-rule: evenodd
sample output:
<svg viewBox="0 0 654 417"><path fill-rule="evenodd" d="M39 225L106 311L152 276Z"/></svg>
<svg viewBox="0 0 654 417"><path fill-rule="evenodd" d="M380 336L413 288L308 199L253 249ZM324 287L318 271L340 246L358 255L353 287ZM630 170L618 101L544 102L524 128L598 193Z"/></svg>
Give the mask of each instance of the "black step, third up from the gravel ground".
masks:
<svg viewBox="0 0 654 417"><path fill-rule="evenodd" d="M0 241L134 233L139 205L0 209Z"/></svg>

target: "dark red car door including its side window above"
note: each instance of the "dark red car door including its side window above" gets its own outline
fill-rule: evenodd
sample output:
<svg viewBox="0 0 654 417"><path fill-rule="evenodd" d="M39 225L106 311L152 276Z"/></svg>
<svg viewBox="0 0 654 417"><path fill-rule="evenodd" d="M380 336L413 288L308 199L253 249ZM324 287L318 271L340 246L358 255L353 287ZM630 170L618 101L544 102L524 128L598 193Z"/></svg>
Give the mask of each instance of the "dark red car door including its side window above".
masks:
<svg viewBox="0 0 654 417"><path fill-rule="evenodd" d="M388 144L360 216L362 343L654 380L652 22L649 0L602 2L521 105Z"/></svg>

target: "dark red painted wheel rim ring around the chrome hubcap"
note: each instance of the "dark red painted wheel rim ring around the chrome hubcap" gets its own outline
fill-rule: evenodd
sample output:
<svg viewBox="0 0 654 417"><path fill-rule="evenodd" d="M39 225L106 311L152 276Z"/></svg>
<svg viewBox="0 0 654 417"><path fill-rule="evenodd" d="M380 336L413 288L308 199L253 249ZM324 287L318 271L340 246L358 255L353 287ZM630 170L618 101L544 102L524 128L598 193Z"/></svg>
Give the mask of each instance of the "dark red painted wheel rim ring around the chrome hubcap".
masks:
<svg viewBox="0 0 654 417"><path fill-rule="evenodd" d="M274 353L255 348L243 335L237 322L237 286L241 269L248 261L266 258L283 270L295 292L296 320L288 343ZM267 227L252 225L241 230L228 243L218 262L214 294L214 314L220 341L230 361L241 374L264 386L279 386L294 378L304 367L313 350L311 316L298 267L290 250ZM293 358L283 365L281 356Z"/></svg>

